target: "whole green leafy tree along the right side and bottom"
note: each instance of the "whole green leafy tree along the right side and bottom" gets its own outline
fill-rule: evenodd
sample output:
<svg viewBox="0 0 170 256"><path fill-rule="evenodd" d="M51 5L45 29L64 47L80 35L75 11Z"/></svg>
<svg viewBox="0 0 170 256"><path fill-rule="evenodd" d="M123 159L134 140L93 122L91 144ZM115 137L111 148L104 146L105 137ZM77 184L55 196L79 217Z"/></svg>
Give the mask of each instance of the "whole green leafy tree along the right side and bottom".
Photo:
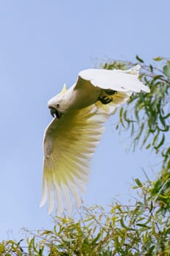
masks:
<svg viewBox="0 0 170 256"><path fill-rule="evenodd" d="M141 79L150 94L134 94L119 110L117 129L130 132L136 146L162 158L156 181L134 180L136 201L115 202L109 211L100 206L82 207L74 218L54 218L53 230L28 232L23 241L1 241L0 255L170 255L170 61L157 57L144 63ZM109 61L106 69L127 69L131 61ZM147 177L147 174L146 174Z"/></svg>

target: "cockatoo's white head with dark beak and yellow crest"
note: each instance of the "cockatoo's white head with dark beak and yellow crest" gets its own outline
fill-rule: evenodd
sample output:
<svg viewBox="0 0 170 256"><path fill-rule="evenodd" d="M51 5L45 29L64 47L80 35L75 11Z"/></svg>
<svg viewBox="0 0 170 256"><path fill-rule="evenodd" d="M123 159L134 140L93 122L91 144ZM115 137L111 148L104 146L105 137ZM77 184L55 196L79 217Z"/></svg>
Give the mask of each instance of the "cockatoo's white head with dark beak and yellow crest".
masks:
<svg viewBox="0 0 170 256"><path fill-rule="evenodd" d="M63 97L65 93L66 84L63 85L63 89L60 94L57 94L55 97L48 101L47 105L48 108L50 108L50 113L53 117L61 118L62 113L64 112Z"/></svg>

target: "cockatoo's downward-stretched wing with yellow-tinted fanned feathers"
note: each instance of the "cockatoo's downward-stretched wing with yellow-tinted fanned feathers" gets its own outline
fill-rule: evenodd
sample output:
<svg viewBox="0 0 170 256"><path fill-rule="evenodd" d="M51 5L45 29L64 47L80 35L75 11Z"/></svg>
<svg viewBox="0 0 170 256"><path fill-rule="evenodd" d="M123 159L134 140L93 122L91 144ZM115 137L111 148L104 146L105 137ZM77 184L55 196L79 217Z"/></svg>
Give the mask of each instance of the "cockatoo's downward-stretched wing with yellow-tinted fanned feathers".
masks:
<svg viewBox="0 0 170 256"><path fill-rule="evenodd" d="M44 174L41 206L48 197L48 212L53 211L55 197L58 215L66 208L72 211L82 203L90 172L90 159L104 132L103 123L109 114L101 113L95 105L53 119L45 131Z"/></svg>

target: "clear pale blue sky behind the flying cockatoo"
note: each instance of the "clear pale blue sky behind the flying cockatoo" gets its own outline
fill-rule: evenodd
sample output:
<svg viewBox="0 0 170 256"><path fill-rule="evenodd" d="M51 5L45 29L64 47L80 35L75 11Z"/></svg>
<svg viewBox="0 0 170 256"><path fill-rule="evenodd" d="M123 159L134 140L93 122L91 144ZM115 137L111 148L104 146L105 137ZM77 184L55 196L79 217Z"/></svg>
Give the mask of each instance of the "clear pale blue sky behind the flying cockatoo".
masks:
<svg viewBox="0 0 170 256"><path fill-rule="evenodd" d="M0 1L0 239L52 227L42 192L47 100L103 59L169 57L170 1ZM98 59L98 61L94 61ZM110 118L93 157L86 206L126 201L133 177L154 178L149 151L125 153ZM12 232L10 231L12 230Z"/></svg>

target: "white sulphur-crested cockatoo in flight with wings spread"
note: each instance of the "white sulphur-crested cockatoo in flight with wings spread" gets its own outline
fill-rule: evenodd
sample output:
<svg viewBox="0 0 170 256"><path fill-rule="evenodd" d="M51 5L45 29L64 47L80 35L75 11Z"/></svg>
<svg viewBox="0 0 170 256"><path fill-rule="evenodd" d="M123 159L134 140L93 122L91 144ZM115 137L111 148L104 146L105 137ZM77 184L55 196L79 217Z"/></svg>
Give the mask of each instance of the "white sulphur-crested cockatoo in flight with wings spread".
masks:
<svg viewBox="0 0 170 256"><path fill-rule="evenodd" d="M128 70L86 69L77 82L48 102L53 120L45 130L42 201L48 199L48 212L64 208L70 214L72 203L82 203L90 172L90 160L104 132L104 122L131 94L150 89L138 79L140 66Z"/></svg>

